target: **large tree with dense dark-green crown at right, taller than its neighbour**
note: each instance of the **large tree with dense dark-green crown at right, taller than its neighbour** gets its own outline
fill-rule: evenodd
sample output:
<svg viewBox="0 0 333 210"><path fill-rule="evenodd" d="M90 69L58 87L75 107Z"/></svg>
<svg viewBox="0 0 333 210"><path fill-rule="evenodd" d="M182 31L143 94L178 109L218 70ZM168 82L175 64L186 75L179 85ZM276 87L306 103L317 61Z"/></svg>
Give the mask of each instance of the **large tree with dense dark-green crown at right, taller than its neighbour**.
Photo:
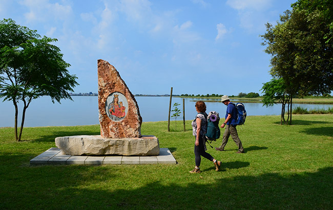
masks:
<svg viewBox="0 0 333 210"><path fill-rule="evenodd" d="M320 1L301 2L311 5ZM275 27L266 24L267 31L261 35L262 44L267 45L265 52L272 56L270 74L283 79L290 97L289 124L295 96L325 95L333 88L332 19L325 16L326 10L306 10L308 5L297 5L292 12L285 11Z"/></svg>

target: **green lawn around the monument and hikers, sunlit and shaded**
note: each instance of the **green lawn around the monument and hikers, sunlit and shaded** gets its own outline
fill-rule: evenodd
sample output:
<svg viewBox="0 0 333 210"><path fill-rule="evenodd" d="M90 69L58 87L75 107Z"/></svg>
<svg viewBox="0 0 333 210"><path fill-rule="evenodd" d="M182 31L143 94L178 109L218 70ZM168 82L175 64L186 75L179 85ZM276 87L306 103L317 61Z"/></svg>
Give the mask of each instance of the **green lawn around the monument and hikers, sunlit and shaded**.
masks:
<svg viewBox="0 0 333 210"><path fill-rule="evenodd" d="M180 121L179 121L180 122ZM99 126L0 128L0 209L331 209L333 204L333 118L331 114L248 116L238 127L244 154L230 138L226 151L208 152L222 161L216 172L194 163L191 121L186 132L168 132L168 122L143 123L177 165L43 165L29 160L55 147L54 138L99 134ZM213 146L219 146L213 142Z"/></svg>

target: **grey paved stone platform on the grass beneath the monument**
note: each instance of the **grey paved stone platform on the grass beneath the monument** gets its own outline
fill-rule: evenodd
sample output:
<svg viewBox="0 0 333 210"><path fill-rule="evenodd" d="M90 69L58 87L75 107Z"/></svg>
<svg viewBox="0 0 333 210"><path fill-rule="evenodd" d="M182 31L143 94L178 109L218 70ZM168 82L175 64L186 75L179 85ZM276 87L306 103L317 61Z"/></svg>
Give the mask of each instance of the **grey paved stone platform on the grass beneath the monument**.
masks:
<svg viewBox="0 0 333 210"><path fill-rule="evenodd" d="M53 147L30 160L30 164L177 164L168 148L160 148L157 156L75 156L63 155L59 148Z"/></svg>

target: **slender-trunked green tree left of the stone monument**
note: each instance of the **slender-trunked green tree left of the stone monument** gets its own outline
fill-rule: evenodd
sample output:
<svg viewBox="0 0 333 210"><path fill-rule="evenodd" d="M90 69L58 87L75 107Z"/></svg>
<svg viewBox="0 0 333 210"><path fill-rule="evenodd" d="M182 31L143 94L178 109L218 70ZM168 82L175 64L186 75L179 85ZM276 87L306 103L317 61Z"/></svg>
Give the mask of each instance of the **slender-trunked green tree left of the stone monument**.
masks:
<svg viewBox="0 0 333 210"><path fill-rule="evenodd" d="M19 26L12 19L0 21L0 92L4 101L12 101L15 107L15 138L20 141L26 110L33 99L50 96L70 99L77 77L70 75L70 66L63 60L60 49L51 44L57 41L35 30ZM22 121L17 132L18 103L23 102Z"/></svg>

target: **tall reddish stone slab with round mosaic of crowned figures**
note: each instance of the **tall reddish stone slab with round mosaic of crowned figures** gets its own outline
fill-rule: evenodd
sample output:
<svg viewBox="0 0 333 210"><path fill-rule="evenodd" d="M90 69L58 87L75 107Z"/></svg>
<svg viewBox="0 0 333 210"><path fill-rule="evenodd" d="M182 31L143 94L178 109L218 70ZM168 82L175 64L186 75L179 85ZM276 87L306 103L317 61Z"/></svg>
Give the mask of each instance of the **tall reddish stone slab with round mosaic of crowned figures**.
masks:
<svg viewBox="0 0 333 210"><path fill-rule="evenodd" d="M142 118L139 107L116 68L99 59L98 111L103 138L141 137Z"/></svg>

